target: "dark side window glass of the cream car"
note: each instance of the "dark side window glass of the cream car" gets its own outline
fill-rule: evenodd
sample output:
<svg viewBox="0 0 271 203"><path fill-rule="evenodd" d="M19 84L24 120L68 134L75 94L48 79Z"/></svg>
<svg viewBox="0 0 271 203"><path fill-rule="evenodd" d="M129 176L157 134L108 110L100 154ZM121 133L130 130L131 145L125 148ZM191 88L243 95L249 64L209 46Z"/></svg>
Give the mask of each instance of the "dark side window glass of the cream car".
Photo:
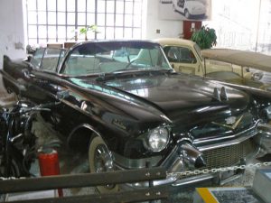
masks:
<svg viewBox="0 0 271 203"><path fill-rule="evenodd" d="M164 47L167 59L173 63L197 63L192 50L186 47L167 46Z"/></svg>

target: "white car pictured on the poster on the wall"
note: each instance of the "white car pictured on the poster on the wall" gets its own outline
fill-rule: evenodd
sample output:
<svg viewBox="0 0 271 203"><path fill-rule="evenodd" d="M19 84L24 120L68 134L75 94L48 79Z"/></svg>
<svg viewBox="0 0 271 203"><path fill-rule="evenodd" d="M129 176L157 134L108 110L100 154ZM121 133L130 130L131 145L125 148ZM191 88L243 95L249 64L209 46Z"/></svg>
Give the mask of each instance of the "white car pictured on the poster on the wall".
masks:
<svg viewBox="0 0 271 203"><path fill-rule="evenodd" d="M184 14L186 18L204 17L206 14L206 6L199 0L173 0L173 10Z"/></svg>

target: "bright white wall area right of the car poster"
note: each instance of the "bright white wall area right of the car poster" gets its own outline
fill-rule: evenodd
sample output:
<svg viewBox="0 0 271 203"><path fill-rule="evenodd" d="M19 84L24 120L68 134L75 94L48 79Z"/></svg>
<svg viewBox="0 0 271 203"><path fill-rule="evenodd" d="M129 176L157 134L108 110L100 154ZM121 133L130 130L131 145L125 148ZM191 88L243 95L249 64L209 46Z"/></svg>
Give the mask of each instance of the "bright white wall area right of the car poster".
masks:
<svg viewBox="0 0 271 203"><path fill-rule="evenodd" d="M216 30L217 48L256 50L260 1L212 0L212 19L204 23Z"/></svg>

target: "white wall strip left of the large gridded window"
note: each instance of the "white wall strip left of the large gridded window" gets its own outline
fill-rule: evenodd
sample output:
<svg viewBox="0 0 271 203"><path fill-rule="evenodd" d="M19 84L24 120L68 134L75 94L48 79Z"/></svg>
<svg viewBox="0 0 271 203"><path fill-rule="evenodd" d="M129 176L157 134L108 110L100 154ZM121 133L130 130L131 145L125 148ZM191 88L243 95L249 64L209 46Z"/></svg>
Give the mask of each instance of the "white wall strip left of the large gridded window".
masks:
<svg viewBox="0 0 271 203"><path fill-rule="evenodd" d="M23 51L23 0L0 0L0 69L3 55L12 59L25 57Z"/></svg>

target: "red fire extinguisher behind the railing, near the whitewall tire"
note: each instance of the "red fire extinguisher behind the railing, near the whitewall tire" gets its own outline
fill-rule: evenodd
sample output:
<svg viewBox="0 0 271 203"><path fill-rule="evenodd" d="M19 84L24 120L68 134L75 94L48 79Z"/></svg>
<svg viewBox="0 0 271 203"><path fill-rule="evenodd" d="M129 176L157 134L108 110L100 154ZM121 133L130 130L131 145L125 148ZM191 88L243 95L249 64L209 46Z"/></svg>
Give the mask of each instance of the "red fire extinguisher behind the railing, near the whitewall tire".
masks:
<svg viewBox="0 0 271 203"><path fill-rule="evenodd" d="M58 152L53 149L39 151L39 164L42 176L59 175L60 162ZM59 197L63 197L63 190L58 189Z"/></svg>

